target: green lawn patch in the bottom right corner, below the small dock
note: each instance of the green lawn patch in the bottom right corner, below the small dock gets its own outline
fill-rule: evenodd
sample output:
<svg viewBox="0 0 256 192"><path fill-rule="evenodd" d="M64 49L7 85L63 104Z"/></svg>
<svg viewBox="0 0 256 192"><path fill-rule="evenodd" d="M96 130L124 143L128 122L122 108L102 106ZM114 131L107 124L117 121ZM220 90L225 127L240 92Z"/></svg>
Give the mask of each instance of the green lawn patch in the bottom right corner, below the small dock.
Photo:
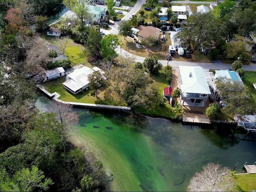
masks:
<svg viewBox="0 0 256 192"><path fill-rule="evenodd" d="M256 174L236 175L237 191L256 190Z"/></svg>

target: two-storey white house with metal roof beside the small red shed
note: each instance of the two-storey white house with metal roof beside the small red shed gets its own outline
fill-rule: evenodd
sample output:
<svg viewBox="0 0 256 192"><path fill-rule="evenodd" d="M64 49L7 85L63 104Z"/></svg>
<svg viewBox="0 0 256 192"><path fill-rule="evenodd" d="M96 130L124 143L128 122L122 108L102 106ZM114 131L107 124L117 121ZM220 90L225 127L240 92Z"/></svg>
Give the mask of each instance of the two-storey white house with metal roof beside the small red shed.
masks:
<svg viewBox="0 0 256 192"><path fill-rule="evenodd" d="M202 67L179 66L178 86L184 106L205 107L211 95Z"/></svg>

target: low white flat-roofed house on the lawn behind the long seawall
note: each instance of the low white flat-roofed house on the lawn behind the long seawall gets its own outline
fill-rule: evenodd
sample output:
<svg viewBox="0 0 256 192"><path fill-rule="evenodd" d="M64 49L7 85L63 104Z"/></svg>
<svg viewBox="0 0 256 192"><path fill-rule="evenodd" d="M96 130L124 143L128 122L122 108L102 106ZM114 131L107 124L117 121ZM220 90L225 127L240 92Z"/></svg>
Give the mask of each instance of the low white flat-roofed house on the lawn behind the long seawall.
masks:
<svg viewBox="0 0 256 192"><path fill-rule="evenodd" d="M88 75L90 75L94 71L100 71L102 75L104 74L104 72L98 67L97 68L94 67L94 70L93 70L89 67L84 66L80 69L75 69L72 73L67 75L66 76L67 80L62 84L68 91L70 91L73 94L77 94L83 91L84 89L87 89L88 87L90 87L90 81L88 80ZM104 77L104 79L106 78Z"/></svg>

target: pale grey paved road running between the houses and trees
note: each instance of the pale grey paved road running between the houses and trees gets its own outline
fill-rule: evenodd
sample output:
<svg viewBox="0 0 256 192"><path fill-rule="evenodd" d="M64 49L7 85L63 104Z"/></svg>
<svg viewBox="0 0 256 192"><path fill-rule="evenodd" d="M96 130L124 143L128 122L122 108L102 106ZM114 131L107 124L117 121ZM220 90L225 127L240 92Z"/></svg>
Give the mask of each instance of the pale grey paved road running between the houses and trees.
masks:
<svg viewBox="0 0 256 192"><path fill-rule="evenodd" d="M174 1L175 3L189 3L190 1ZM140 10L141 6L145 4L145 0L137 0L137 3L134 5L134 7L122 18L122 20L128 20L130 17L132 17L132 14L136 14L138 10ZM190 3L198 3L196 1L191 1ZM201 4L205 3L216 3L216 2L199 2ZM112 26L111 30L102 30L104 31L105 34L118 34L118 24L119 22L116 22L114 26ZM121 53L121 48L117 48L116 52L118 54ZM132 53L128 53L126 50L122 49L122 55L128 54L132 57L135 57L136 61L143 62L145 57L140 57L137 55L133 55ZM163 66L167 65L167 60L158 60L160 63L162 63ZM231 65L222 63L220 60L214 61L214 63L200 63L200 62L189 62L189 61L169 61L168 65L172 67L178 67L180 65L185 65L185 66L200 66L203 67L204 69L229 69ZM245 71L256 71L256 64L251 63L250 65L243 65L243 68Z"/></svg>

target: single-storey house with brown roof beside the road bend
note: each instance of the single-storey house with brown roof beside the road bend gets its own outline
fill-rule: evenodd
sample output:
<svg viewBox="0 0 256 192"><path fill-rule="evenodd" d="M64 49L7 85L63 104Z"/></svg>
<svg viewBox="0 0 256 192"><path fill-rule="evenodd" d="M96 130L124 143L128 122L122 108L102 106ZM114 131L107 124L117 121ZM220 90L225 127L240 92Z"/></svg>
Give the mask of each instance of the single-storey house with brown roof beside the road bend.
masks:
<svg viewBox="0 0 256 192"><path fill-rule="evenodd" d="M143 38L148 38L148 37L154 38L156 42L159 40L160 32L161 32L160 29L155 28L153 26L142 26L142 25L138 26L137 29L140 30L140 32L138 32L139 40L142 40Z"/></svg>

